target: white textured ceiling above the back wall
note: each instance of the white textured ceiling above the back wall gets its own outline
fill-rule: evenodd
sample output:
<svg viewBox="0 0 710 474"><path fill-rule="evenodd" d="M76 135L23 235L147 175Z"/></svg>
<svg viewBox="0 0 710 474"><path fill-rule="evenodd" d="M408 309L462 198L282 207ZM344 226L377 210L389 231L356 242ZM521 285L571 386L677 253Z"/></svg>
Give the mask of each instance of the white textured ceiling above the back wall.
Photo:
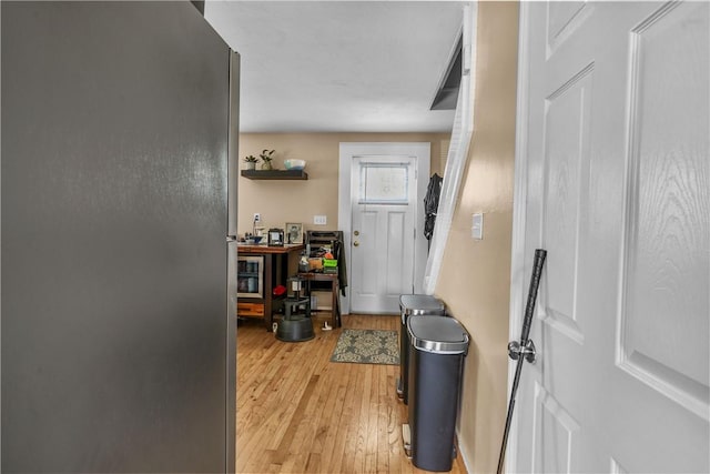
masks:
<svg viewBox="0 0 710 474"><path fill-rule="evenodd" d="M429 110L460 1L206 1L241 62L242 132L449 132Z"/></svg>

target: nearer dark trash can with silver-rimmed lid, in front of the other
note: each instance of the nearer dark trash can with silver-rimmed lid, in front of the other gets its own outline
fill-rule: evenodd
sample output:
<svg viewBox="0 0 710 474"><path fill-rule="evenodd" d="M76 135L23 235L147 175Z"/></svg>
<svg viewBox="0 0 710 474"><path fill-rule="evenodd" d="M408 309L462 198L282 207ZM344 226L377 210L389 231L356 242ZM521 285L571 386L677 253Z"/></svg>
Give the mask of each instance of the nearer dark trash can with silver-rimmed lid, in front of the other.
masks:
<svg viewBox="0 0 710 474"><path fill-rule="evenodd" d="M440 316L410 317L407 329L412 463L450 471L468 333L455 319Z"/></svg>

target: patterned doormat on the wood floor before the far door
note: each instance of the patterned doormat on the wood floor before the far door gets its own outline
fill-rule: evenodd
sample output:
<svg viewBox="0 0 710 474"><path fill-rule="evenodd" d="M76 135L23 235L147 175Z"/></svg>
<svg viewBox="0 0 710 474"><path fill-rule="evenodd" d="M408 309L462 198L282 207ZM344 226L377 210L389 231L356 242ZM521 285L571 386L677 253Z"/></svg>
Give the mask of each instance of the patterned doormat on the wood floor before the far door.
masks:
<svg viewBox="0 0 710 474"><path fill-rule="evenodd" d="M343 330L331 362L354 364L399 364L397 331Z"/></svg>

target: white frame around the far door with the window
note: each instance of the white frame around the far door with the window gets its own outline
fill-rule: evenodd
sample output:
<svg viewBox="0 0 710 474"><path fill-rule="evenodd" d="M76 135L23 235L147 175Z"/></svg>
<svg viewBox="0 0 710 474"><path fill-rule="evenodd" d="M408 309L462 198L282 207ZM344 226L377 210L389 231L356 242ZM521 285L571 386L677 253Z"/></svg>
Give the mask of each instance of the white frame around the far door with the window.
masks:
<svg viewBox="0 0 710 474"><path fill-rule="evenodd" d="M409 155L416 158L415 180L417 198L414 203L415 242L414 242L414 292L423 293L424 269L426 266L427 245L424 238L424 198L429 183L432 143L429 142L342 142L338 163L337 222L343 231L347 255L352 245L352 202L351 202L351 164L353 157L366 155ZM347 281L352 281L349 262L346 262ZM343 314L351 312L349 291L341 296Z"/></svg>

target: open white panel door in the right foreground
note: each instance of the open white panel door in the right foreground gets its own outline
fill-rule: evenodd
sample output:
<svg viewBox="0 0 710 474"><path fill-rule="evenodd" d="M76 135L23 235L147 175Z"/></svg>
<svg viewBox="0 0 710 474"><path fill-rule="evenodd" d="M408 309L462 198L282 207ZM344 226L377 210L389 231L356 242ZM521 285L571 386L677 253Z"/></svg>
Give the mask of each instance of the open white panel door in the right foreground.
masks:
<svg viewBox="0 0 710 474"><path fill-rule="evenodd" d="M709 3L521 12L523 274L548 256L508 467L707 473Z"/></svg>

